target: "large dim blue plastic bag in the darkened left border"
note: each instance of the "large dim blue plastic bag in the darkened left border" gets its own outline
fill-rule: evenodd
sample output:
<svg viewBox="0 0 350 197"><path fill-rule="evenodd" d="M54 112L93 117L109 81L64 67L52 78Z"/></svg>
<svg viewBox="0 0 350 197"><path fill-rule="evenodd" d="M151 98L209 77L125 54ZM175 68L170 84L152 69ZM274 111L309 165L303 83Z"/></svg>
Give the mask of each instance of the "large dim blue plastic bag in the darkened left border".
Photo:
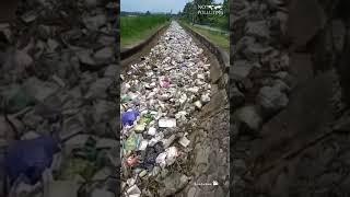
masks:
<svg viewBox="0 0 350 197"><path fill-rule="evenodd" d="M48 136L11 144L5 157L7 173L11 183L21 174L27 177L26 184L37 183L45 169L51 165L54 154L59 151L58 144L58 140Z"/></svg>

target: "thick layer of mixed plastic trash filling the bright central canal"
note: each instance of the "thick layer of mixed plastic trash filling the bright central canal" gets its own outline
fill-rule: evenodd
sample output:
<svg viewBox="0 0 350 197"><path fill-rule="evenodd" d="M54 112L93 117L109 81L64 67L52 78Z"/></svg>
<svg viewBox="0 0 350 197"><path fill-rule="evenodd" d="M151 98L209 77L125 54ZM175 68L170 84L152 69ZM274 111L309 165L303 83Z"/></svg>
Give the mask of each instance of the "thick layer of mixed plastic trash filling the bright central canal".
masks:
<svg viewBox="0 0 350 197"><path fill-rule="evenodd" d="M121 76L122 194L168 196L189 181L179 166L195 116L210 101L210 65L176 22L142 59ZM164 185L170 177L175 188Z"/></svg>

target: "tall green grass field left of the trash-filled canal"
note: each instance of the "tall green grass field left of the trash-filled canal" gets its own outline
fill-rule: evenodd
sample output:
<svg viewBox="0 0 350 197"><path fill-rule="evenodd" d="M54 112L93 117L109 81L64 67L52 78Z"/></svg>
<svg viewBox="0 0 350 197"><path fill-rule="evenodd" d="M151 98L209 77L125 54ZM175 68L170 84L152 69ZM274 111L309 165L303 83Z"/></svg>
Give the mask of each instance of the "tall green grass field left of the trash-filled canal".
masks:
<svg viewBox="0 0 350 197"><path fill-rule="evenodd" d="M120 18L121 48L133 46L148 38L163 24L168 23L166 15L138 15Z"/></svg>

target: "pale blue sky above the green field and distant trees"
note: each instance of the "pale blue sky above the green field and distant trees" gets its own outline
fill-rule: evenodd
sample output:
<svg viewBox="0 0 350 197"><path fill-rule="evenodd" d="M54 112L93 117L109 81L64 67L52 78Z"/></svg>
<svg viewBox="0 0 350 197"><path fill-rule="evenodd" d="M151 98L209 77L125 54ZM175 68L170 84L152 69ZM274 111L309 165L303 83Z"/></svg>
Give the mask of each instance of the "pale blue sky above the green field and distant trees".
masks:
<svg viewBox="0 0 350 197"><path fill-rule="evenodd" d="M120 0L120 10L128 12L170 12L183 11L185 4L191 0ZM215 0L223 2L223 0Z"/></svg>

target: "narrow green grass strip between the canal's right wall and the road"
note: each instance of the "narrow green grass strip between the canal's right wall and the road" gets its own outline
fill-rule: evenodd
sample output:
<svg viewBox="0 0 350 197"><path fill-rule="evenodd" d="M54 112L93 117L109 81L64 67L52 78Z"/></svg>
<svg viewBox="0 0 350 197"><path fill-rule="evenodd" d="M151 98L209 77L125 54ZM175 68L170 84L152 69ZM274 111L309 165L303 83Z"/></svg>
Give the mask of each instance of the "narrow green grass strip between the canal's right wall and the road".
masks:
<svg viewBox="0 0 350 197"><path fill-rule="evenodd" d="M186 22L182 22L184 25L190 27L191 30L194 30L195 32L201 34L202 36L205 36L207 39L209 39L210 42L212 42L213 44L218 45L219 47L221 47L222 49L224 49L225 51L230 53L230 35L225 35L222 34L220 32L215 32L215 31L210 31L210 30L206 30L206 28L200 28L194 25L190 25Z"/></svg>

